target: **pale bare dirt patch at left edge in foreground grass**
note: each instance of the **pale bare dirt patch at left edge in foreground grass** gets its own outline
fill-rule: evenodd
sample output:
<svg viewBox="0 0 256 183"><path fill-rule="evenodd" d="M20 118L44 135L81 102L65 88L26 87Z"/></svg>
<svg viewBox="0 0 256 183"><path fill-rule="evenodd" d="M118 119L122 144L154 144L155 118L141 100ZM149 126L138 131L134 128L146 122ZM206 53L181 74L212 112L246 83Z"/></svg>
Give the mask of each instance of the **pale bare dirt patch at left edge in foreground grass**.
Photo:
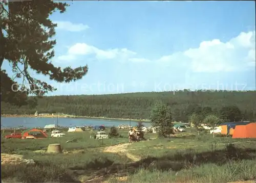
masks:
<svg viewBox="0 0 256 183"><path fill-rule="evenodd" d="M20 164L20 163L34 164L35 162L33 160L24 159L23 155L1 153L1 165L3 165L3 164Z"/></svg>

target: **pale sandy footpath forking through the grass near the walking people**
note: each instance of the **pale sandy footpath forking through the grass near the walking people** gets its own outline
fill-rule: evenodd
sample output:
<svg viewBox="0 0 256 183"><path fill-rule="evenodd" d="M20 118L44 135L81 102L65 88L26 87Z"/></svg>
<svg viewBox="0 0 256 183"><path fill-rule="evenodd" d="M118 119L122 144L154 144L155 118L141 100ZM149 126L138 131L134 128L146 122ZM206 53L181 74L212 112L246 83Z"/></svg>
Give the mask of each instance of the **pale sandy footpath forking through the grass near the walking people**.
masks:
<svg viewBox="0 0 256 183"><path fill-rule="evenodd" d="M114 146L109 146L106 147L103 152L112 152L112 153L118 153L118 154L124 154L127 156L127 158L131 159L134 162L139 161L141 158L137 157L131 153L129 153L127 150L127 147L129 146L129 143L125 143L125 144L118 144L118 145L114 145Z"/></svg>

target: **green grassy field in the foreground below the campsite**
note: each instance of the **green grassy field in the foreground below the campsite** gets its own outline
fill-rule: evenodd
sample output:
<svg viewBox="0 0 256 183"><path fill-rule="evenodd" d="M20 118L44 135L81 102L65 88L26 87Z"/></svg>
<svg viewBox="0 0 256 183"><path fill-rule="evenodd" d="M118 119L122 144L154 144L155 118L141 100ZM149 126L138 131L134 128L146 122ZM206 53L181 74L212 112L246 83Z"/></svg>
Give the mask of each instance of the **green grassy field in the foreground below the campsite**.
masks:
<svg viewBox="0 0 256 183"><path fill-rule="evenodd" d="M34 165L4 164L4 182L231 182L256 179L256 139L215 137L193 129L175 137L127 144L124 138L90 139L91 132L66 137L1 140L1 152L22 154ZM3 135L3 134L2 134ZM66 143L76 139L76 142ZM60 143L62 154L44 151ZM118 145L119 144L119 145Z"/></svg>

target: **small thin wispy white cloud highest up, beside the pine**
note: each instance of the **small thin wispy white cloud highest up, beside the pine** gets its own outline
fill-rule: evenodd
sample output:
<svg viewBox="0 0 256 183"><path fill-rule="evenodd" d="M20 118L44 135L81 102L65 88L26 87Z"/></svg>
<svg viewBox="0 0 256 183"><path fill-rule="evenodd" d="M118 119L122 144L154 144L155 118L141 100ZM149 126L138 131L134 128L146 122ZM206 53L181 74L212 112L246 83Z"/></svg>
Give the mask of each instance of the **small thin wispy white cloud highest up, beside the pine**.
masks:
<svg viewBox="0 0 256 183"><path fill-rule="evenodd" d="M56 29L62 29L70 32L80 32L90 28L88 25L72 23L70 21L54 21L54 23L57 23Z"/></svg>

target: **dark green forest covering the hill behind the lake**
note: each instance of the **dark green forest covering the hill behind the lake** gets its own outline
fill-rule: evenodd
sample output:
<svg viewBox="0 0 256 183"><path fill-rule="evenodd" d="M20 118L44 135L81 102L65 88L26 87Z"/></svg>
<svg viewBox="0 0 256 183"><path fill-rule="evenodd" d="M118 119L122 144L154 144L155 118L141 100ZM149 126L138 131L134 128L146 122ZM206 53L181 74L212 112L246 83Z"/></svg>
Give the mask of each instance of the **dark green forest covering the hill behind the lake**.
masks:
<svg viewBox="0 0 256 183"><path fill-rule="evenodd" d="M173 120L176 121L188 121L193 113L231 115L229 118L231 121L242 119L255 121L255 96L256 91L189 90L175 93L45 96L38 99L37 106L32 103L29 106L17 108L2 102L1 113L34 114L38 111L38 113L64 113L77 116L148 119L156 101L162 101L172 109Z"/></svg>

